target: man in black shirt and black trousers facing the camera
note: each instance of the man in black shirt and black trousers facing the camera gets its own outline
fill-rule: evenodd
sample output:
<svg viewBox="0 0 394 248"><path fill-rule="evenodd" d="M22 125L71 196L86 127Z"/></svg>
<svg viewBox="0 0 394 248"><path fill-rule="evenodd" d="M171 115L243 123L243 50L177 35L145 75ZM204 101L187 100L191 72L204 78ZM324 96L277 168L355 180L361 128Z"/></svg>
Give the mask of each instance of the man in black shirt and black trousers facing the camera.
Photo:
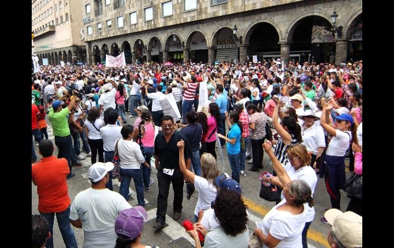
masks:
<svg viewBox="0 0 394 248"><path fill-rule="evenodd" d="M159 194L157 197L156 223L154 228L164 227L167 212L167 199L170 184L174 190L173 216L174 220L181 217L183 201L184 176L179 169L179 149L177 143L185 141L186 168L190 169L191 150L185 134L175 130L174 121L171 116L164 116L161 122L163 132L159 133L155 140L155 167L158 170L157 179Z"/></svg>

